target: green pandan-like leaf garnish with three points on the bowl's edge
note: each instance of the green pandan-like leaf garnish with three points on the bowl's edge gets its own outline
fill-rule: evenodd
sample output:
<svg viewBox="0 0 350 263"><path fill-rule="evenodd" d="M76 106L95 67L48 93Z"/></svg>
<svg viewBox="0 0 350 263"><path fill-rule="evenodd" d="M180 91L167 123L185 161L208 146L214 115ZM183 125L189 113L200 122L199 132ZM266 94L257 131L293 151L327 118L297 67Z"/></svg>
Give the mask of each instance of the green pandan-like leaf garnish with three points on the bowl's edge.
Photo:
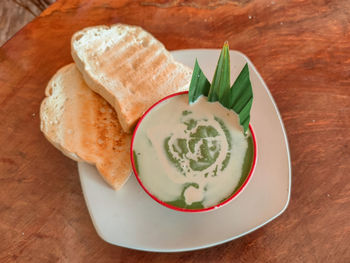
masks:
<svg viewBox="0 0 350 263"><path fill-rule="evenodd" d="M188 95L190 103L195 102L201 95L208 97L210 102L219 101L225 108L238 114L244 133L247 132L253 103L249 68L246 63L230 87L230 54L227 42L221 50L212 84L209 83L196 60Z"/></svg>

